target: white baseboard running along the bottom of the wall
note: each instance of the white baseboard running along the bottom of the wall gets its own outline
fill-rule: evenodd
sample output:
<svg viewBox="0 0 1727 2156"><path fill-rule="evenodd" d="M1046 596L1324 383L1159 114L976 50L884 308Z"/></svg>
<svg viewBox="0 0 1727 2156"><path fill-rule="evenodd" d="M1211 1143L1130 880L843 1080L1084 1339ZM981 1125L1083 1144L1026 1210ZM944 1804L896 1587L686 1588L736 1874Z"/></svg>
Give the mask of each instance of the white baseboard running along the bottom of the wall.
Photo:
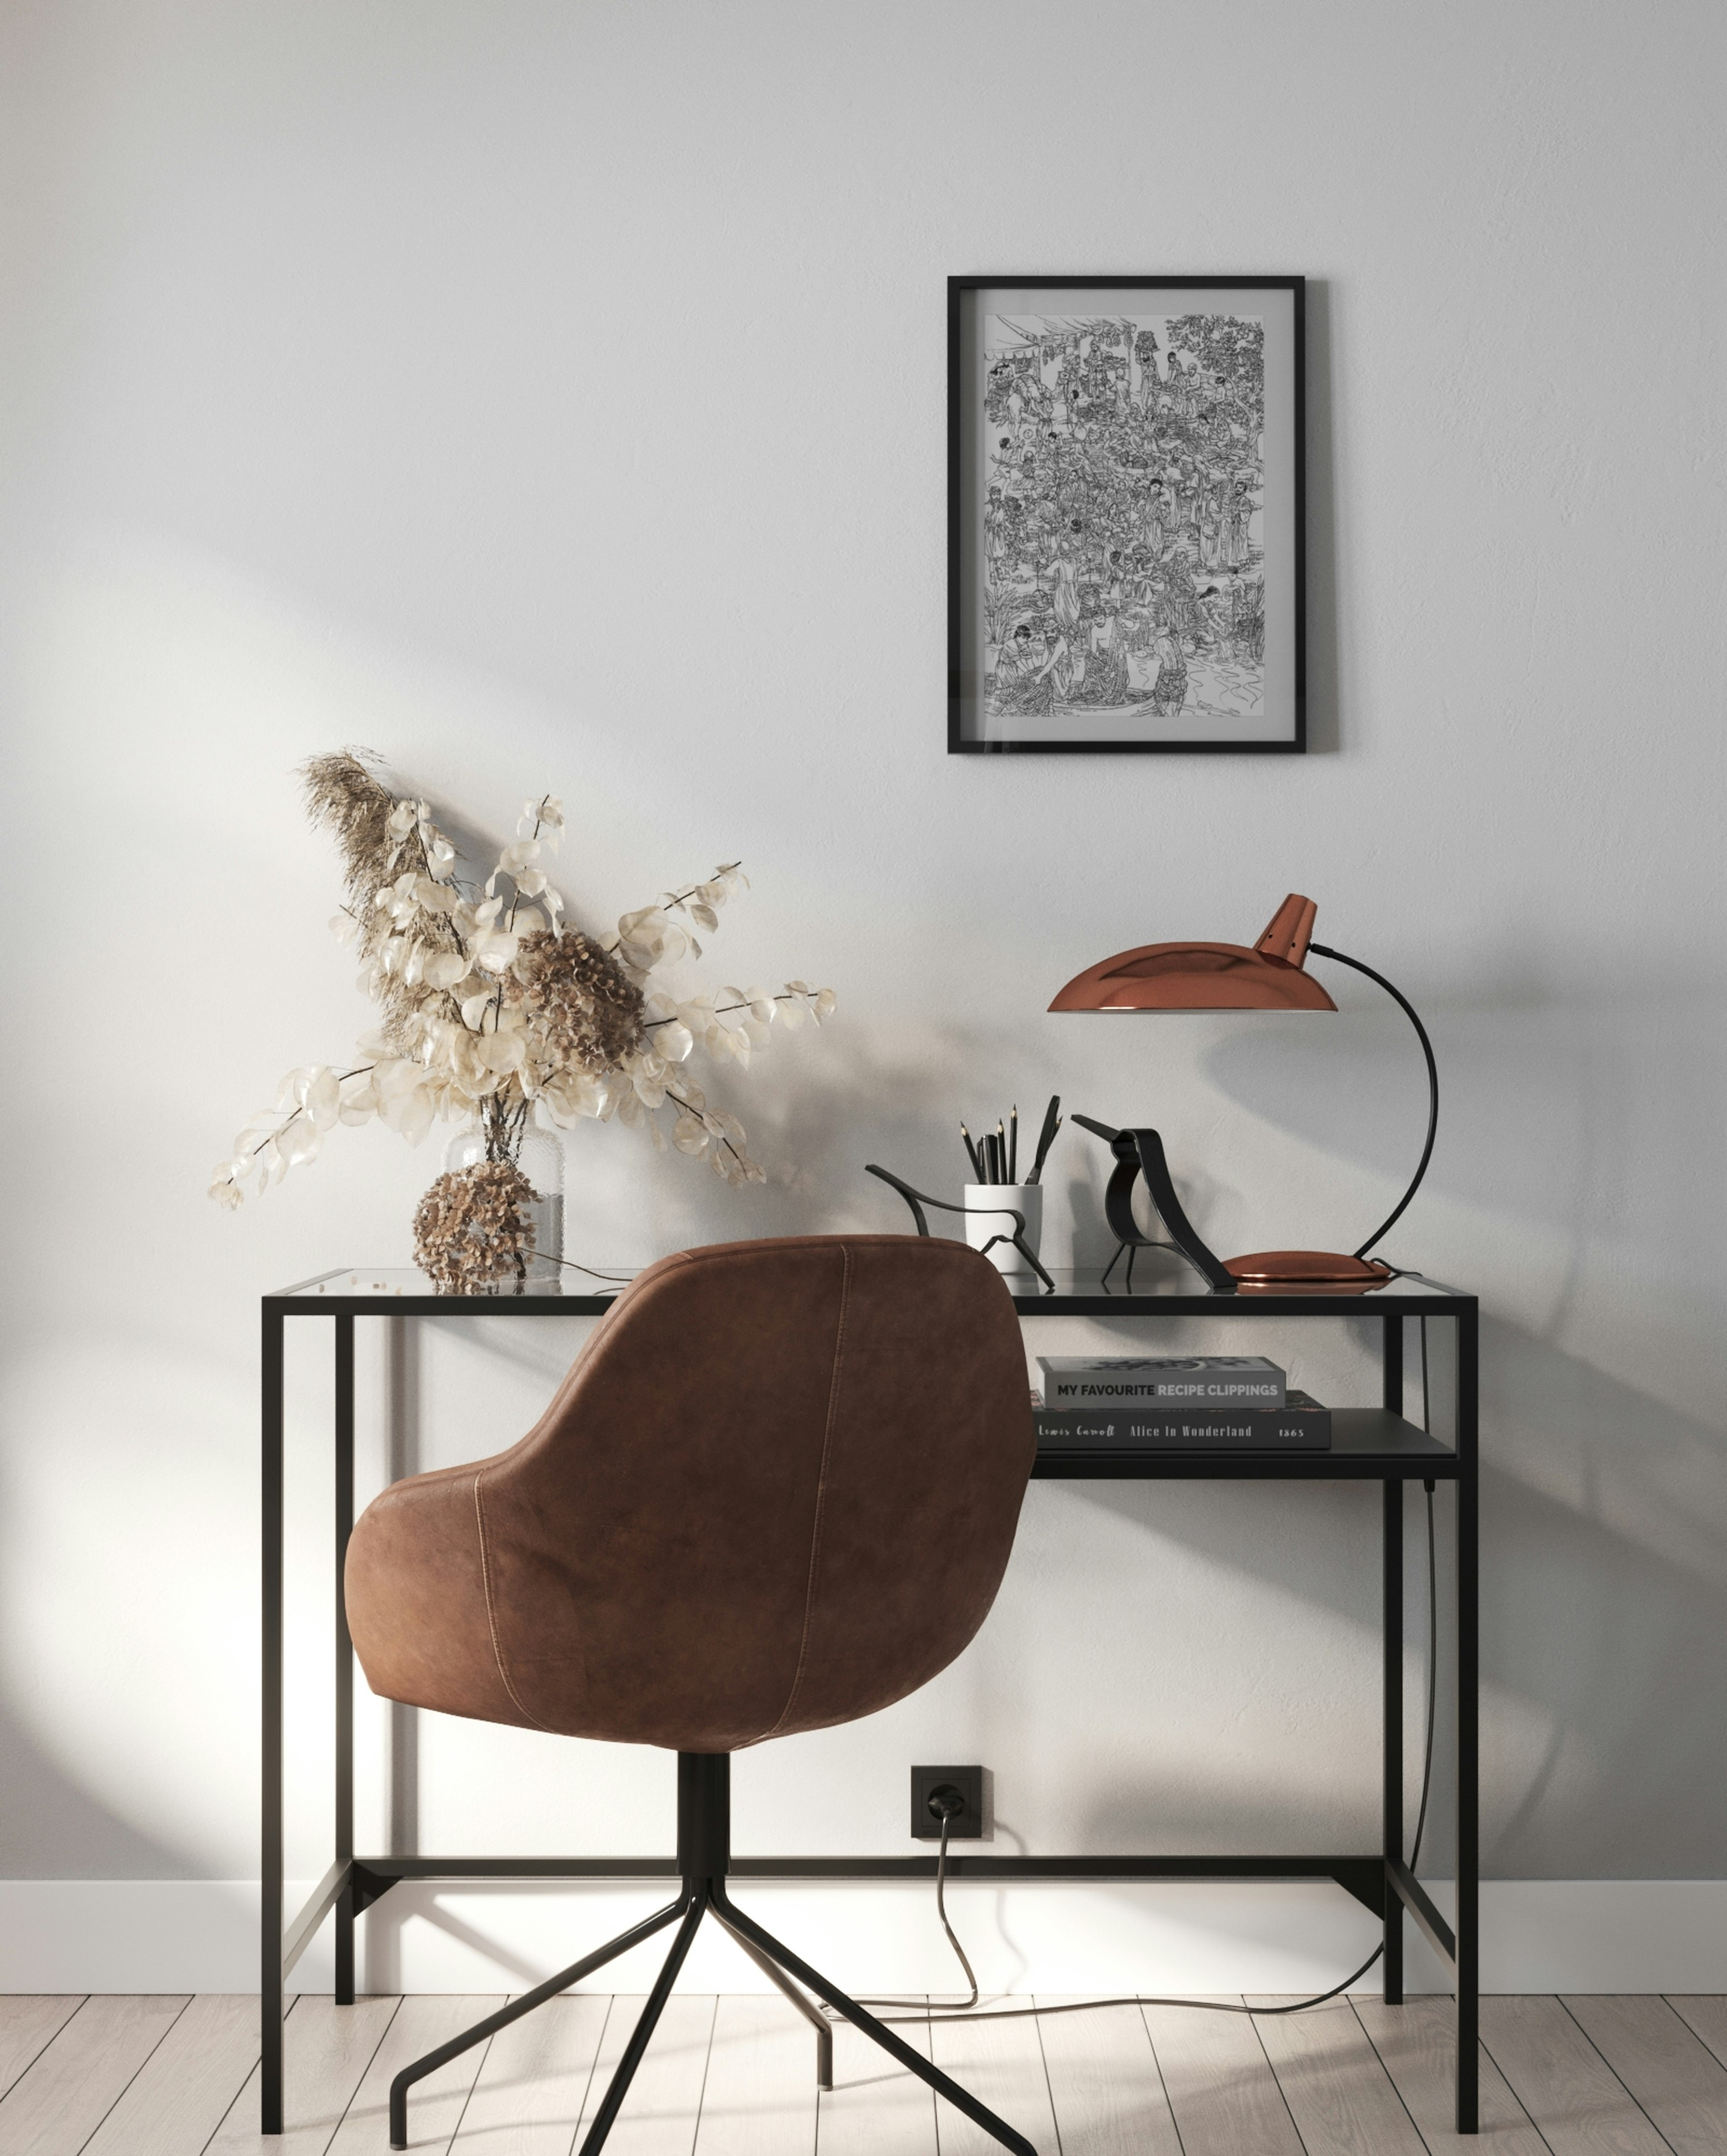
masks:
<svg viewBox="0 0 1727 2156"><path fill-rule="evenodd" d="M1440 1882L1434 1899L1451 1895ZM310 1882L291 1889L291 1906ZM955 1988L921 1887L748 1882L750 1912L854 1990ZM367 1990L524 1990L666 1899L647 1887L410 1884L360 1921ZM0 1992L257 1990L259 1889L248 1880L0 1880ZM985 1990L1324 1990L1378 1925L1322 1882L1171 1880L1149 1887L949 1889ZM1408 1925L1408 1988L1445 1990ZM658 1943L593 1979L647 1990ZM330 1990L330 1925L293 1973ZM1378 1990L1378 1968L1363 1990ZM683 1990L752 1992L765 1979L705 1925ZM1490 1992L1727 1992L1727 1880L1488 1880L1481 1988Z"/></svg>

